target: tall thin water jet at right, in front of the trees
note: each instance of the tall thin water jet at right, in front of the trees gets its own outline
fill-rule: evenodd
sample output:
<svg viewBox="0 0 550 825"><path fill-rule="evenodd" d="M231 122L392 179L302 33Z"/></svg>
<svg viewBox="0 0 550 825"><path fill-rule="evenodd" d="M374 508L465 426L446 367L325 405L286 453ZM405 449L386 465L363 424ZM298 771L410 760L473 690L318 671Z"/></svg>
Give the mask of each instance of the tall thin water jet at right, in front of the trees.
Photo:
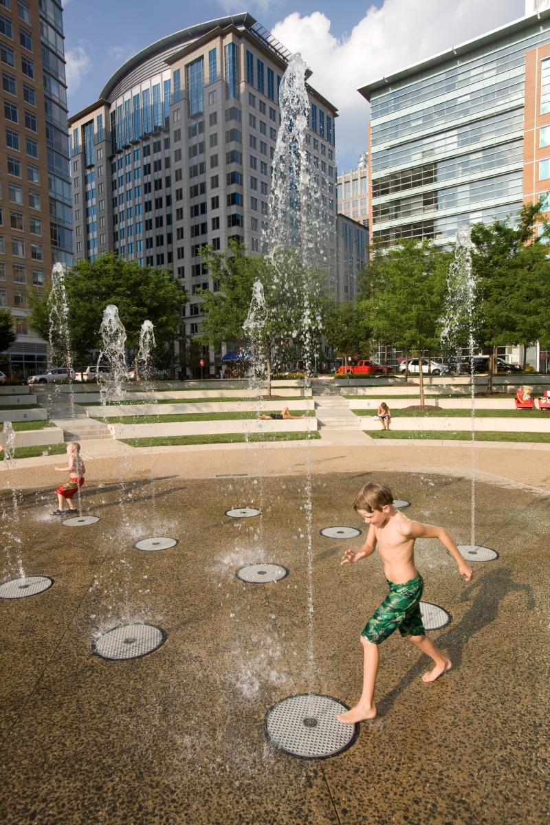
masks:
<svg viewBox="0 0 550 825"><path fill-rule="evenodd" d="M470 227L458 229L454 260L449 266L447 279L447 297L444 312L444 326L441 332L441 344L449 355L449 361L458 365L460 348L468 342L468 361L470 365L470 414L471 414L471 506L470 506L470 545L475 547L476 531L476 389L473 372L473 354L475 351L475 309L476 278L472 270L472 238Z"/></svg>

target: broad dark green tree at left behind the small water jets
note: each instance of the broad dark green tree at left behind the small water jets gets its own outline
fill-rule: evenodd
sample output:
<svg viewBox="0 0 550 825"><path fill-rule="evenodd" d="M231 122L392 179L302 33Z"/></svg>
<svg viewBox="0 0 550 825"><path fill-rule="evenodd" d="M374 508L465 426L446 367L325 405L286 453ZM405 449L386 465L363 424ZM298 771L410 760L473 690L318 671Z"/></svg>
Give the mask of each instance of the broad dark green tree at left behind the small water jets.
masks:
<svg viewBox="0 0 550 825"><path fill-rule="evenodd" d="M140 266L112 253L94 262L79 261L65 278L68 323L74 362L85 361L89 351L101 347L99 328L107 304L115 304L125 325L127 346L136 349L145 318L155 328L158 351L171 347L181 323L185 290L169 271ZM49 287L42 297L31 296L29 323L48 338Z"/></svg>

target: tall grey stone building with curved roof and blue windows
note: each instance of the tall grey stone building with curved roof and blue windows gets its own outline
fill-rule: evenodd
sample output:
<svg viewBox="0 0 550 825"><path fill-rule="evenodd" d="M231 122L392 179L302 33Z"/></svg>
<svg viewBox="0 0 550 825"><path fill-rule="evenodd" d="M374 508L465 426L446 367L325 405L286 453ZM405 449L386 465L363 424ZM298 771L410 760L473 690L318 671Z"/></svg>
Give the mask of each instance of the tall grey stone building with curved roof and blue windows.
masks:
<svg viewBox="0 0 550 825"><path fill-rule="evenodd" d="M172 270L189 297L188 339L200 329L196 291L217 288L200 247L238 238L262 251L288 59L247 13L190 26L129 59L69 120L77 261L115 251ZM336 291L336 109L308 96Z"/></svg>

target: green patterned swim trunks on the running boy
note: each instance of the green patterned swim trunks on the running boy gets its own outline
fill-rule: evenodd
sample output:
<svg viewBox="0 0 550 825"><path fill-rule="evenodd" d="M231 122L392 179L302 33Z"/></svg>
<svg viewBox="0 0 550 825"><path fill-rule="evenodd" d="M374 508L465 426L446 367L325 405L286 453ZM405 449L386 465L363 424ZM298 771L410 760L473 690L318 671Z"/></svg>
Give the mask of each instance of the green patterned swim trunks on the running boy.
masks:
<svg viewBox="0 0 550 825"><path fill-rule="evenodd" d="M361 635L374 644L388 639L396 629L399 629L402 636L425 636L419 605L424 590L421 574L403 584L388 582L388 587L388 596L374 611L374 616L364 626Z"/></svg>

